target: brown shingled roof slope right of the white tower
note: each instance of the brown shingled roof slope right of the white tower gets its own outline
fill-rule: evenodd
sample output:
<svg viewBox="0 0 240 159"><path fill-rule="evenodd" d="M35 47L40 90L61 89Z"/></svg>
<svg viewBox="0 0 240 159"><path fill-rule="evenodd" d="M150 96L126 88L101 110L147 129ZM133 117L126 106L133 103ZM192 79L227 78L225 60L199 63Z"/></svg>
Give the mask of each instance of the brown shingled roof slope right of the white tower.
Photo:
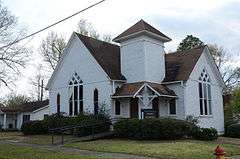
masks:
<svg viewBox="0 0 240 159"><path fill-rule="evenodd" d="M177 51L165 54L166 75L163 82L188 80L205 46L199 46L187 51Z"/></svg>

